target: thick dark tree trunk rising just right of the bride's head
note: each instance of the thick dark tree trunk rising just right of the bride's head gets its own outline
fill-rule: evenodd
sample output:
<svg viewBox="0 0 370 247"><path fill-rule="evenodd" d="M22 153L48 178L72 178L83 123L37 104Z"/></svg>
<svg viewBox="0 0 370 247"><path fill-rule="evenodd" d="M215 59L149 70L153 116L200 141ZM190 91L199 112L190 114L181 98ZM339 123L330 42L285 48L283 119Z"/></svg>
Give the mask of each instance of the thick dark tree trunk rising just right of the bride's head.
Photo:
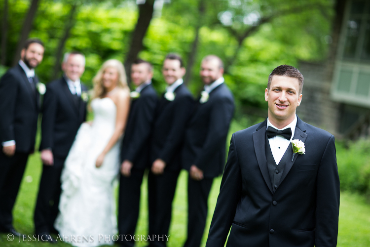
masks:
<svg viewBox="0 0 370 247"><path fill-rule="evenodd" d="M153 17L154 0L146 0L144 4L139 4L139 18L135 29L132 32L131 44L125 57L125 70L127 82L130 81L130 70L132 62L137 58L143 49L143 39L147 33L151 18Z"/></svg>

